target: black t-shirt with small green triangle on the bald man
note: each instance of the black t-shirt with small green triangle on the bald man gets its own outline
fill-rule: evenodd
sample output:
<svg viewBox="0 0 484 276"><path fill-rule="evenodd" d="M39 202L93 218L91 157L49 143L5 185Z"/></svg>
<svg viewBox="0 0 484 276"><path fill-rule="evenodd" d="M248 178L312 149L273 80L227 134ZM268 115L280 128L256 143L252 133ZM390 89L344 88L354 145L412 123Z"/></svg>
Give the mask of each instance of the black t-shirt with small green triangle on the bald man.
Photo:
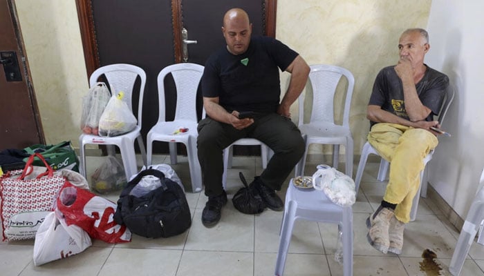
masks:
<svg viewBox="0 0 484 276"><path fill-rule="evenodd" d="M279 68L286 70L297 55L272 37L252 37L241 55L223 46L205 63L203 97L218 97L228 112L275 112L281 95Z"/></svg>

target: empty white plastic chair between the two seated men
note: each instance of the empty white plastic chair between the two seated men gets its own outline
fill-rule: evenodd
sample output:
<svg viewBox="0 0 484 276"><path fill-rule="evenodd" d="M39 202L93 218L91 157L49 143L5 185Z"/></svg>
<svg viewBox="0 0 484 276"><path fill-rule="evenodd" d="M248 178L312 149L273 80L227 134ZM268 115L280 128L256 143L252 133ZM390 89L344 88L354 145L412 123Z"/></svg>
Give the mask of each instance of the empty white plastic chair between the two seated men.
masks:
<svg viewBox="0 0 484 276"><path fill-rule="evenodd" d="M349 125L351 96L355 86L355 78L350 71L339 66L316 64L310 66L309 81L313 86L313 110L310 121L304 124L304 95L299 96L299 130L306 141L306 151L301 161L296 165L295 176L304 175L306 154L310 144L333 145L333 167L337 168L339 161L339 145L344 145L346 152L345 173L353 175L353 137ZM346 99L344 99L343 121L335 122L334 99L339 81L346 78Z"/></svg>

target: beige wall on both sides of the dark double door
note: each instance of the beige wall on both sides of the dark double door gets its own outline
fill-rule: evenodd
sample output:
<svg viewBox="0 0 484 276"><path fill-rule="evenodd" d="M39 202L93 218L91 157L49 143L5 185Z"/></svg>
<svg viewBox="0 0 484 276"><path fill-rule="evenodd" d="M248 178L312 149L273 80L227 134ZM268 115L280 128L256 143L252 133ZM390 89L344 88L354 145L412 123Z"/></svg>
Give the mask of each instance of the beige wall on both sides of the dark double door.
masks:
<svg viewBox="0 0 484 276"><path fill-rule="evenodd" d="M75 1L15 3L47 143L71 140L77 147L88 81ZM310 64L330 63L353 72L351 130L359 155L369 128L365 112L373 79L380 68L395 63L402 30L427 26L431 0L279 0L277 4L277 39ZM287 79L284 73L283 87ZM292 108L296 115L297 105ZM314 147L311 151L322 152Z"/></svg>

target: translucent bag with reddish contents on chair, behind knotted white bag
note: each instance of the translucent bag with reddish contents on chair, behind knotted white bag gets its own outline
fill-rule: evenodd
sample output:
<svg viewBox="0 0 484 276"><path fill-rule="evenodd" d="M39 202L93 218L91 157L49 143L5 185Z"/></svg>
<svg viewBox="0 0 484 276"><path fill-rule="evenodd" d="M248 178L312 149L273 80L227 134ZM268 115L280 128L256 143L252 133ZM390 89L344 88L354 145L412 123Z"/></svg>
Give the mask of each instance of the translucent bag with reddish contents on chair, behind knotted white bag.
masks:
<svg viewBox="0 0 484 276"><path fill-rule="evenodd" d="M111 97L104 82L98 82L82 98L81 129L86 134L99 135L99 120Z"/></svg>

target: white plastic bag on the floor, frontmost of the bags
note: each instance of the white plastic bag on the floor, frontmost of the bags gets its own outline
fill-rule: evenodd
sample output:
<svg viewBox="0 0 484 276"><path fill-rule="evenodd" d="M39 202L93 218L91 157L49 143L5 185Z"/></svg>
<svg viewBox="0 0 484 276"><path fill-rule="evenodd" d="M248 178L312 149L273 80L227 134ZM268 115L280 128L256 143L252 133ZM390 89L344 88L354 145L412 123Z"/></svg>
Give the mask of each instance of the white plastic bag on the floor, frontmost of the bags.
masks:
<svg viewBox="0 0 484 276"><path fill-rule="evenodd" d="M79 226L67 226L62 213L50 212L39 226L34 242L34 264L65 259L91 246L91 237Z"/></svg>

